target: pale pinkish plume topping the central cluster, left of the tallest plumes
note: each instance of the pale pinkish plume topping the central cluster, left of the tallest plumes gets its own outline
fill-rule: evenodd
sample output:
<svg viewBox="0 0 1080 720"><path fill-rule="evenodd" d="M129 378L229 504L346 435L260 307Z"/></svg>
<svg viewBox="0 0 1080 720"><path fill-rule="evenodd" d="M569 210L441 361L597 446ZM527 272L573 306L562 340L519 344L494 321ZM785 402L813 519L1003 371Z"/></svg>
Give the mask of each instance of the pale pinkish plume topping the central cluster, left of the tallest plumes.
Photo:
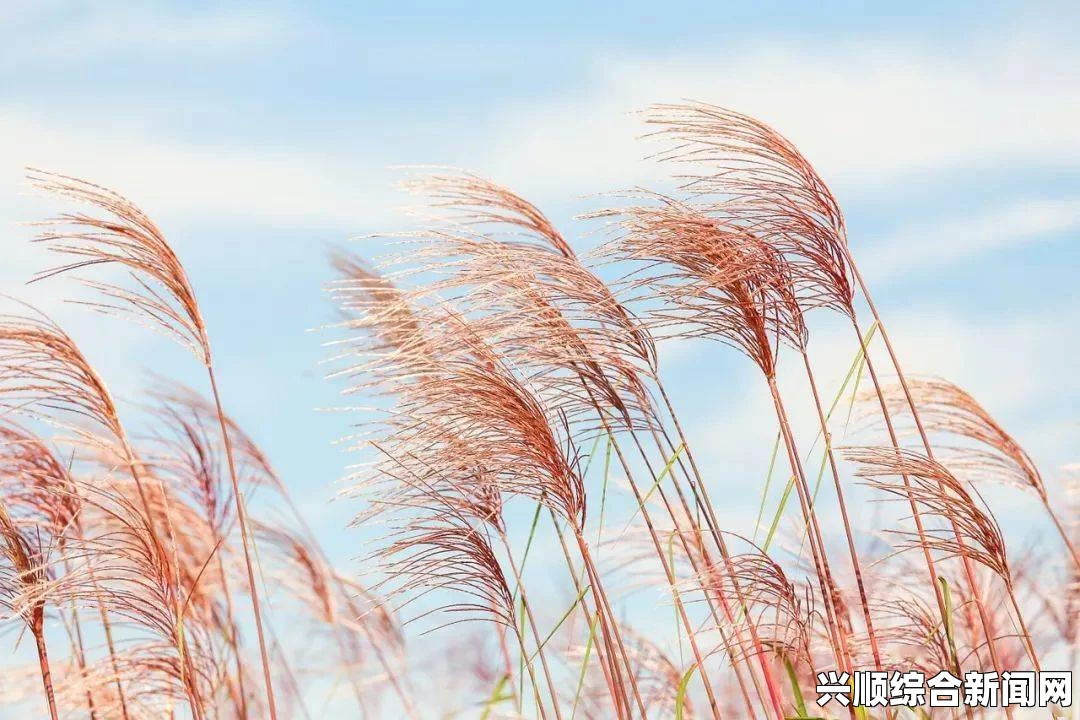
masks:
<svg viewBox="0 0 1080 720"><path fill-rule="evenodd" d="M642 376L656 369L651 338L535 205L471 174L408 186L449 215L448 227L415 233L416 247L395 261L402 274L434 277L410 293L414 304L451 295L484 340L553 400L588 412L588 399L576 398L580 378L619 416L648 406ZM372 296L386 304L388 289Z"/></svg>

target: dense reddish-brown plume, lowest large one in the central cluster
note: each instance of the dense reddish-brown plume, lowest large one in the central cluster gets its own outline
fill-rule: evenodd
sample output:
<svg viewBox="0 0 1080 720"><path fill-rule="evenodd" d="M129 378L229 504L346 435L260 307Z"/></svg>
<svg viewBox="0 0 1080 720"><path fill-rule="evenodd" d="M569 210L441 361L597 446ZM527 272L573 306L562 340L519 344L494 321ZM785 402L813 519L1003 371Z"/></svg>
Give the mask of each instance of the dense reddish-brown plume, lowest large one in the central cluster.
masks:
<svg viewBox="0 0 1080 720"><path fill-rule="evenodd" d="M386 438L375 440L384 457L375 478L405 495L437 494L496 524L499 493L543 500L581 527L585 492L577 457L567 454L540 399L484 345L474 348L489 359L447 362L400 388L395 408L374 429Z"/></svg>

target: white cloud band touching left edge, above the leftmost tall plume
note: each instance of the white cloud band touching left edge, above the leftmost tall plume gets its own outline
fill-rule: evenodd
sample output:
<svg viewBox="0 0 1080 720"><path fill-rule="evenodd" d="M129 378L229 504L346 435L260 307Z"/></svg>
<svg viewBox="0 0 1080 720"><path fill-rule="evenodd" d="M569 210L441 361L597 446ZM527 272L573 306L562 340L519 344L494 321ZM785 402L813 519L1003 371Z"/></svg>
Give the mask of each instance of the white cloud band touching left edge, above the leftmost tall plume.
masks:
<svg viewBox="0 0 1080 720"><path fill-rule="evenodd" d="M221 148L156 135L135 123L57 120L0 105L4 201L19 192L21 167L57 169L130 194L154 215L258 218L359 227L392 194L379 168L280 148Z"/></svg>

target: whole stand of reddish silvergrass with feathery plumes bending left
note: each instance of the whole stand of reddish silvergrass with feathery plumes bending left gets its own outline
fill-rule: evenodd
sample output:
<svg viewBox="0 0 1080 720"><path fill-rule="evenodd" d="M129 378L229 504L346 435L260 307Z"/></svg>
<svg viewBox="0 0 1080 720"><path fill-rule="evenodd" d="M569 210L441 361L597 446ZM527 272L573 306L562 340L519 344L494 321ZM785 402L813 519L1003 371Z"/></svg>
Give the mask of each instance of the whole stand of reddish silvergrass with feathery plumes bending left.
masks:
<svg viewBox="0 0 1080 720"><path fill-rule="evenodd" d="M0 717L1070 717L818 705L832 670L1076 668L1080 487L993 397L905 372L783 128L697 103L642 121L674 189L603 195L589 253L512 189L435 168L403 182L416 229L328 254L349 568L233 420L213 352L231 340L212 345L138 188L27 171L56 210L32 241L55 264L26 280L111 316L100 332L178 342L201 380L152 377L129 426L73 337L6 299ZM839 371L812 361L821 323L847 338ZM774 415L740 485L751 533L725 527L726 468L664 384L658 348L708 341Z"/></svg>

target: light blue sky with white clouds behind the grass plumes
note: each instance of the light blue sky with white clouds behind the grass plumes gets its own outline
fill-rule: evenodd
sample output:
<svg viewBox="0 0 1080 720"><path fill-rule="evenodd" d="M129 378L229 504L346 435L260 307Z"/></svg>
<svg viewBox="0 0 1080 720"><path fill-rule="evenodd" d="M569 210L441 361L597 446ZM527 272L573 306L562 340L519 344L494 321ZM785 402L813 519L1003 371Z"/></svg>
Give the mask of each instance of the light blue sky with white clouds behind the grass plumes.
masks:
<svg viewBox="0 0 1080 720"><path fill-rule="evenodd" d="M349 418L313 410L339 403L308 331L329 317L326 249L402 228L392 166L417 163L504 182L586 247L596 228L573 218L597 193L664 181L632 112L690 97L759 116L818 165L909 369L983 398L1052 479L1080 460L1071 3L580 4L9 0L0 290L69 324L122 396L147 369L194 382L160 340L64 307L73 286L23 286L45 260L18 223L56 207L24 165L140 203L189 267L232 412L356 555L348 505L326 504ZM826 323L812 342L835 388L850 340ZM768 397L728 352L664 365L745 527Z"/></svg>

